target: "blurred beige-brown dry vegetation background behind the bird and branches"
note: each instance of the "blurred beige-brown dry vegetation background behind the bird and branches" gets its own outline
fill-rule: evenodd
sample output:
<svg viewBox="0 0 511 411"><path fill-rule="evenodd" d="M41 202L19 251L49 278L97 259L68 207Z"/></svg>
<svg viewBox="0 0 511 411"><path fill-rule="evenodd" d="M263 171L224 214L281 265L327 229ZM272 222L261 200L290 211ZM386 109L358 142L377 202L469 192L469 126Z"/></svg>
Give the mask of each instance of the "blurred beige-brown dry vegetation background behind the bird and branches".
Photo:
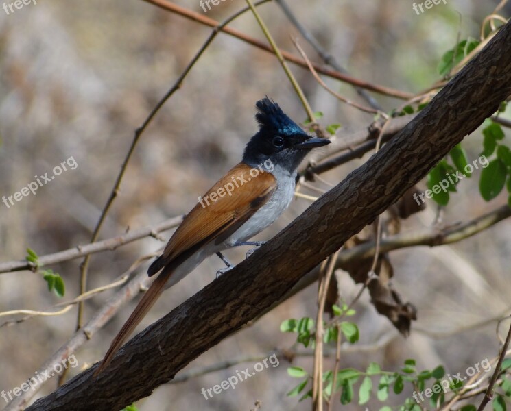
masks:
<svg viewBox="0 0 511 411"><path fill-rule="evenodd" d="M198 1L176 3L202 12ZM440 3L418 16L409 1L289 3L302 23L352 75L409 92L423 90L436 81L438 61L455 45L458 32L461 38L478 38L482 19L497 5L497 1L448 0L447 5ZM222 20L243 5L238 0L225 1L206 15ZM278 6L268 3L259 11L278 45L294 52L289 34L298 34ZM506 14L510 14L509 9ZM232 26L263 39L249 13ZM136 0L45 0L25 5L9 16L0 11L0 196L12 195L34 175L51 172L70 156L78 163L75 170L39 188L35 196L23 197L9 209L0 204L0 261L24 258L27 247L43 256L88 242L134 129L209 33L207 27ZM300 44L310 58L319 61L304 40ZM324 112L323 124L342 123L344 129L361 129L372 121L372 115L333 99L308 71L294 66L292 70L313 109ZM357 99L350 86L331 79L326 82ZM101 238L187 212L198 195L239 161L244 145L257 129L254 103L264 95L274 98L297 121L305 119L274 56L230 36L217 36L182 88L143 134ZM375 97L385 110L401 105L397 99ZM506 139L509 142L509 135ZM480 132L463 144L469 160L475 160L482 150ZM350 162L324 178L337 184L362 161ZM446 223L467 221L505 203L504 195L490 205L485 203L477 191L478 172L476 176L464 180L451 197ZM420 188L425 189L425 182ZM296 199L281 219L257 238L270 238L308 204L305 199ZM425 212L405 222L403 231L431 225L436 206L431 200L427 206ZM361 340L355 349L343 351L341 366L365 369L376 361L394 370L405 358L416 358L419 369L444 364L448 373L455 374L495 356L498 340L496 323L491 319L511 309L510 228L510 221L503 221L456 245L391 253L394 286L418 308L412 335L406 339L400 336L364 295L355 307ZM164 233L164 237L169 234ZM117 251L96 254L91 260L88 287L112 282L136 258L161 246L162 242L146 238ZM237 262L245 252L240 249L226 254ZM67 285L64 301L78 294L80 261L50 267ZM217 258L206 260L193 275L165 292L140 329L213 281L221 266ZM337 277L342 295L349 301L358 287L345 273L339 272ZM88 301L86 319L112 292ZM20 271L0 275L0 312L46 310L59 302L38 274ZM71 376L102 358L132 308L134 302L75 354L80 366L71 370ZM316 286L311 286L189 367L291 347L294 337L279 332L281 321L315 313ZM12 318L0 316L0 324ZM62 316L0 327L0 390L12 390L31 377L73 334L75 325L73 309ZM294 364L310 370L311 358L296 358ZM278 367L262 371L236 390L226 390L209 401L200 394L202 387L219 384L236 369L252 367L253 362L186 383L161 386L137 406L140 410L249 410L254 401L261 400L263 410L308 410L309 401L297 403L296 398L285 396L298 383L287 375L288 365L281 359ZM38 396L50 393L56 384L57 378L51 379ZM403 399L390 398L391 403ZM0 399L0 408L4 405ZM369 408L377 406L377 402L370 403Z"/></svg>

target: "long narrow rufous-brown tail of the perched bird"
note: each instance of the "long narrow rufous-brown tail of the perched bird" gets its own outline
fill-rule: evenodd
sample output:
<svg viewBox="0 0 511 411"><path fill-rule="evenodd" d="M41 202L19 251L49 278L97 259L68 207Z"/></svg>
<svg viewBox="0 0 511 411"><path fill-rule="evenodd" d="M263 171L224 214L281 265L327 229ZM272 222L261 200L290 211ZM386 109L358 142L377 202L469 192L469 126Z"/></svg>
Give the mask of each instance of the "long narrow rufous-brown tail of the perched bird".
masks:
<svg viewBox="0 0 511 411"><path fill-rule="evenodd" d="M165 284L167 283L167 280L173 271L174 267L167 266L165 269L163 269L160 275L156 277L145 295L140 300L138 306L136 306L135 310L130 315L128 321L124 323L121 331L119 331L119 334L117 334L117 336L112 341L112 344L110 344L110 348L106 352L101 364L99 364L97 367L94 376L99 375L99 373L101 373L105 367L110 364L110 361L112 361L112 358L114 358L117 350L121 347L121 345L123 345L124 341L126 341L126 338L128 338L136 326L139 325L139 323L145 317L145 314L147 314L158 297L160 297L163 290L165 290Z"/></svg>

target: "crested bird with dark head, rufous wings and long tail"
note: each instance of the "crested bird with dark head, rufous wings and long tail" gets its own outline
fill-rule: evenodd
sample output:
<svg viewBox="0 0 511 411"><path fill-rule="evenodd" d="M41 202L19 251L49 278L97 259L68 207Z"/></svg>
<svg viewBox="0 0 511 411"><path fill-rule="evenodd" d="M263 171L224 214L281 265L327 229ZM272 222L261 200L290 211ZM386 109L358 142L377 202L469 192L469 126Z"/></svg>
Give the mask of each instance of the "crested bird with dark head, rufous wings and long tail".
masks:
<svg viewBox="0 0 511 411"><path fill-rule="evenodd" d="M298 166L309 151L331 142L307 134L268 96L257 101L256 108L259 131L248 141L241 162L199 197L163 254L147 269L150 277L161 273L112 340L95 375L108 366L163 290L174 286L208 256L216 253L227 264L218 276L233 267L221 251L238 245L262 245L263 242L248 240L271 225L289 206Z"/></svg>

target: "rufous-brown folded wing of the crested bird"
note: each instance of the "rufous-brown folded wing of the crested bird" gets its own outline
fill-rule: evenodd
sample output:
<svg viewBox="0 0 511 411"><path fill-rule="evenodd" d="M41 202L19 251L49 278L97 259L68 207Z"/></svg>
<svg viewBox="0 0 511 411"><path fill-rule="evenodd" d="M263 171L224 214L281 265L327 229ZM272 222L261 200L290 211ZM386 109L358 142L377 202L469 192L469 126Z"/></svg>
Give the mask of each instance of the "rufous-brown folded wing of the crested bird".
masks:
<svg viewBox="0 0 511 411"><path fill-rule="evenodd" d="M163 265L213 239L228 238L272 197L275 177L257 169L252 177L251 169L237 164L202 196L167 243Z"/></svg>

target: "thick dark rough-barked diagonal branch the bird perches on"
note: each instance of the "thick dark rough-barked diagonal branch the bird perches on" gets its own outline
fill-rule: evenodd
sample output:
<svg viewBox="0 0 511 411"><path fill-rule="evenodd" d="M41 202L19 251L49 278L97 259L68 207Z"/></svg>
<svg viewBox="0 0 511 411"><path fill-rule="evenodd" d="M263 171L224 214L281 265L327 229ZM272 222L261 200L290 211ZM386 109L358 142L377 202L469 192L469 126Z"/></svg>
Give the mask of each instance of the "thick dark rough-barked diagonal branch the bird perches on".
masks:
<svg viewBox="0 0 511 411"><path fill-rule="evenodd" d="M29 410L119 410L280 299L298 279L422 179L511 94L511 23L397 136L283 232ZM169 291L171 292L171 291Z"/></svg>

